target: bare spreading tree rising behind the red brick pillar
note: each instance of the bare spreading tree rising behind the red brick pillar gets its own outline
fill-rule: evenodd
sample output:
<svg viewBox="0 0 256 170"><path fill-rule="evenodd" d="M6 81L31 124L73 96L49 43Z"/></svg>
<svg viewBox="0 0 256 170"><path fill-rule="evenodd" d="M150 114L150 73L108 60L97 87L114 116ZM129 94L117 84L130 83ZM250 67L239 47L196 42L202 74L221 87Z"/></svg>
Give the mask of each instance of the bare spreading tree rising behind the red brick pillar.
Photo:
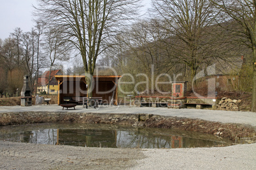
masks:
<svg viewBox="0 0 256 170"><path fill-rule="evenodd" d="M191 81L202 65L216 58L227 60L218 50L225 39L217 36L222 32L217 32L218 12L210 0L153 0L153 10L159 27L169 36L162 41L171 49L171 58L190 68Z"/></svg>

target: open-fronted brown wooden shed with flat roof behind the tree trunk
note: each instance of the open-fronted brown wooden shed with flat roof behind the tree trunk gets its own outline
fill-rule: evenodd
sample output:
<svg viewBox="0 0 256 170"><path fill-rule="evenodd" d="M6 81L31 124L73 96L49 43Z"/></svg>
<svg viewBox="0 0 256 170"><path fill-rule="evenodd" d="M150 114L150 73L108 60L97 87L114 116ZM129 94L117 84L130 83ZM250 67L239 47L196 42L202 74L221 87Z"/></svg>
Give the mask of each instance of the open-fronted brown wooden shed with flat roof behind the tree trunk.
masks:
<svg viewBox="0 0 256 170"><path fill-rule="evenodd" d="M118 79L121 75L94 75L92 97L102 97L103 103L111 101L117 105ZM58 81L58 105L64 97L87 97L87 83L84 75L55 75Z"/></svg>

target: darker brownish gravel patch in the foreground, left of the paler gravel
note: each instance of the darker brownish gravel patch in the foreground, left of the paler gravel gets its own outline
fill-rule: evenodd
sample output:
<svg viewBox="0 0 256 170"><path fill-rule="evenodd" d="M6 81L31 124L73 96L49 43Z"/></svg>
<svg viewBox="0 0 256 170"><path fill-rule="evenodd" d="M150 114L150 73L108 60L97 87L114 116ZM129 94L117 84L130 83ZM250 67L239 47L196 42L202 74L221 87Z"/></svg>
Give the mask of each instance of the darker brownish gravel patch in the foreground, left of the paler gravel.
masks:
<svg viewBox="0 0 256 170"><path fill-rule="evenodd" d="M0 169L127 169L141 150L0 141Z"/></svg>

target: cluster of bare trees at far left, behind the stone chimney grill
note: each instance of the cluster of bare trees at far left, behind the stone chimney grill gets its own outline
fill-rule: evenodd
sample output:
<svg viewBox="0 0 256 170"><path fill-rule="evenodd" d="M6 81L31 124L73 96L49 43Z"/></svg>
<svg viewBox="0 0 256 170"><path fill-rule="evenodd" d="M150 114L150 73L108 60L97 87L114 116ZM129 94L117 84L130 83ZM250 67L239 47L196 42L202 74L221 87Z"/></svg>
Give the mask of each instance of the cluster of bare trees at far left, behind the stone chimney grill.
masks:
<svg viewBox="0 0 256 170"><path fill-rule="evenodd" d="M28 75L32 93L45 69L59 69L57 61L69 59L70 48L60 33L36 22L30 32L16 28L7 39L0 39L0 94L19 96L23 76Z"/></svg>

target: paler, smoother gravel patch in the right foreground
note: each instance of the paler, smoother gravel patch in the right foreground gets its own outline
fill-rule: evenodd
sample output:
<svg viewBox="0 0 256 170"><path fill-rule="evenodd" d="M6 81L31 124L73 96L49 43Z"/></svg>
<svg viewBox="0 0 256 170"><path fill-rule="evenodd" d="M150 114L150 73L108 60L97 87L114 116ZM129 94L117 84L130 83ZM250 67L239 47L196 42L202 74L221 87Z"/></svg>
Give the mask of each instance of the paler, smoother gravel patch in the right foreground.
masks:
<svg viewBox="0 0 256 170"><path fill-rule="evenodd" d="M256 143L218 148L143 150L131 169L256 169Z"/></svg>

